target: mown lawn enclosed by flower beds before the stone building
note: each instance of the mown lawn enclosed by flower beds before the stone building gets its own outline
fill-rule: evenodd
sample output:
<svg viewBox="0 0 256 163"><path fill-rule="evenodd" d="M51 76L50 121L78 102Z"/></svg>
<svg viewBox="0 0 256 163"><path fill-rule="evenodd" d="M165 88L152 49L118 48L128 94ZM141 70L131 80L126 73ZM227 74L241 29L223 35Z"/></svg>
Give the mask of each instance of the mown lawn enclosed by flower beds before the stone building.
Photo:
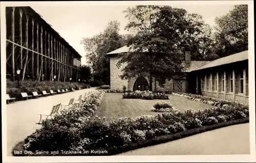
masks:
<svg viewBox="0 0 256 163"><path fill-rule="evenodd" d="M97 115L98 117L105 117L106 121L112 121L119 117L135 118L139 115L157 115L159 113L152 112L151 107L156 102L167 101L179 110L204 109L212 108L214 106L191 101L182 97L169 95L169 100L142 100L142 99L122 99L123 93L106 93L102 101L93 115L92 119Z"/></svg>

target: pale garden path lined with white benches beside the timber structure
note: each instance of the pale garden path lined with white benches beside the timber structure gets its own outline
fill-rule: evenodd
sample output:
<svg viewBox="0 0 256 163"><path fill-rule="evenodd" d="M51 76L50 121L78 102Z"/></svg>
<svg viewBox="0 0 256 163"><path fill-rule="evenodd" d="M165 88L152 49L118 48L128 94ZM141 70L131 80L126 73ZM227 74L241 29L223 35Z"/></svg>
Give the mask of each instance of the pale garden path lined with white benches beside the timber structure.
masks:
<svg viewBox="0 0 256 163"><path fill-rule="evenodd" d="M87 88L67 92L65 94L41 97L38 99L18 101L16 103L8 104L7 111L7 155L11 156L12 148L20 141L23 141L27 136L32 134L41 125L36 124L40 116L38 113L51 110L53 105L67 104L71 98L78 99L78 97L86 92L94 90L95 88Z"/></svg>

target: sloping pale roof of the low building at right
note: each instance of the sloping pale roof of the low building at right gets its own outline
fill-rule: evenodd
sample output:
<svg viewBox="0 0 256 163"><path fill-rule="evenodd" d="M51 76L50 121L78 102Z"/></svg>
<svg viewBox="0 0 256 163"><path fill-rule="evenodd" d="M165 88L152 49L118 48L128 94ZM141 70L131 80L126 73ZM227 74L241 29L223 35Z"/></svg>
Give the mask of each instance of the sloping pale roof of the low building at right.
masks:
<svg viewBox="0 0 256 163"><path fill-rule="evenodd" d="M243 60L247 60L248 59L248 51L243 51L240 53L236 53L227 57L222 57L213 61L210 61L196 69L194 69L193 71L197 71L199 69L204 69L204 68L209 68L209 67L216 67L219 65L223 65L223 64L228 64L228 63L233 63L233 62L239 62L239 61L243 61Z"/></svg>

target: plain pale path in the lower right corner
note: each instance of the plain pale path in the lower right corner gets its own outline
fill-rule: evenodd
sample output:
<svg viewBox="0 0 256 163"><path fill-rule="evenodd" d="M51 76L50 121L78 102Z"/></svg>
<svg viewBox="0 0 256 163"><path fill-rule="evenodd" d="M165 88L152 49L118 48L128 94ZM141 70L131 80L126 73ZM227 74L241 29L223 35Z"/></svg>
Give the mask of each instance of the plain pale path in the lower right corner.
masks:
<svg viewBox="0 0 256 163"><path fill-rule="evenodd" d="M223 127L118 155L250 154L249 123Z"/></svg>

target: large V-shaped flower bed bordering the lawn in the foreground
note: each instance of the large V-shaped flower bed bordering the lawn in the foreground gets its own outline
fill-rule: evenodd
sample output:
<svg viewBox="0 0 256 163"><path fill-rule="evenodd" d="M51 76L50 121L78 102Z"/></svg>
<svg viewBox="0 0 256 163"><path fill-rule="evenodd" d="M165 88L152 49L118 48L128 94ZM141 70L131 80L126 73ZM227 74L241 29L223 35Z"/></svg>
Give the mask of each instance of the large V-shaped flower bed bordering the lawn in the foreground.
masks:
<svg viewBox="0 0 256 163"><path fill-rule="evenodd" d="M174 109L157 116L141 115L135 119L125 117L110 123L105 122L104 118L96 117L90 120L103 94L104 92L96 92L70 111L65 110L53 120L44 122L41 129L25 139L24 150L35 152L117 149L158 136L249 117L248 109L229 105L201 110ZM167 105L155 106L161 108L158 106Z"/></svg>

